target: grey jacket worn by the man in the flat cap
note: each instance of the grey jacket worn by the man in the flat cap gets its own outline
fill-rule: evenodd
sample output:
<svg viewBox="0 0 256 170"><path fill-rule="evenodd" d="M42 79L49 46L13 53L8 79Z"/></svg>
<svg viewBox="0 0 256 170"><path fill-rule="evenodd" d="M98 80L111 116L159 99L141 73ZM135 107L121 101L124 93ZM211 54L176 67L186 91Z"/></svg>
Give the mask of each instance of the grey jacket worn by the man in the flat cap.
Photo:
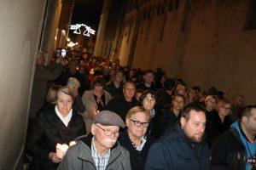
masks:
<svg viewBox="0 0 256 170"><path fill-rule="evenodd" d="M67 150L58 170L96 170L96 165L90 152L91 139L92 134L89 133L87 136L77 140L77 144ZM106 170L131 170L129 152L118 142L111 149Z"/></svg>

